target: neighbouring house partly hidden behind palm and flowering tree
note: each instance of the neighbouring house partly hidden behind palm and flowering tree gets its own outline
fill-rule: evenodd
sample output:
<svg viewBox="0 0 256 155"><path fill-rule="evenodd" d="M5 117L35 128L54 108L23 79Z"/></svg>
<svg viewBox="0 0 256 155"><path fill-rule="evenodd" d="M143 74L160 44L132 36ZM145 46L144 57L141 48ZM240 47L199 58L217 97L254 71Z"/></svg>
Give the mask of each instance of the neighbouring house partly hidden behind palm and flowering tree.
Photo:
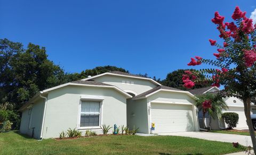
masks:
<svg viewBox="0 0 256 155"><path fill-rule="evenodd" d="M200 95L204 93L213 93L218 91L220 91L220 89L217 87L206 87L201 89L190 90L189 92L193 93L194 95ZM228 109L222 110L222 113L227 113L227 112L237 113L239 115L239 120L236 128L241 128L241 129L248 128L246 124L246 117L244 114L243 101L236 97L226 97L226 98L223 98L223 100L226 102ZM253 108L254 106L252 106L252 111L253 111ZM256 108L254 111L256 112ZM202 117L203 117L202 113L199 112L198 117L199 117L200 126L202 127ZM209 115L206 116L205 124L206 126L211 126L213 130L221 130L223 128L226 128L226 124L223 122L222 119L214 120L213 118L210 118Z"/></svg>

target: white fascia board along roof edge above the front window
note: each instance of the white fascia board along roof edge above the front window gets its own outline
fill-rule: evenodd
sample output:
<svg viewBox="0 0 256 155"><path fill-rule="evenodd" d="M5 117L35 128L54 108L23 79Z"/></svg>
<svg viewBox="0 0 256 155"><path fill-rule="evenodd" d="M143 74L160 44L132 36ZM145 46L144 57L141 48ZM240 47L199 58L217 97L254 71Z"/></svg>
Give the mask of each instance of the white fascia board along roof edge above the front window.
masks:
<svg viewBox="0 0 256 155"><path fill-rule="evenodd" d="M91 85L91 84L79 84L79 83L70 83L70 82L62 84L62 85L58 85L57 87L53 87L53 88L50 88L50 89L43 90L42 92L47 93L51 90L58 89L58 88L61 88L61 87L65 87L66 85L79 85L79 86L99 87L99 88L114 88L115 90L123 93L126 97L132 98L132 96L130 94L124 92L122 89L119 89L119 88L115 87L114 85L113 86L111 86L111 85Z"/></svg>

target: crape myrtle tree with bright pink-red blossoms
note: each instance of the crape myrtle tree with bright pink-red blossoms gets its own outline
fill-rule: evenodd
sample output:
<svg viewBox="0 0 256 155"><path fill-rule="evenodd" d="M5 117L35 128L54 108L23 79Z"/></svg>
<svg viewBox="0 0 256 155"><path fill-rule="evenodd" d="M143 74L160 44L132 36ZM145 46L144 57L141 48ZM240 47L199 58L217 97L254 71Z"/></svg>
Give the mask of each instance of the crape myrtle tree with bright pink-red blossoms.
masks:
<svg viewBox="0 0 256 155"><path fill-rule="evenodd" d="M233 15L233 22L225 22L224 16L215 12L212 22L217 25L220 32L219 37L223 42L210 39L210 44L217 47L213 55L215 60L204 59L196 56L191 58L189 66L200 65L202 63L213 66L204 68L196 72L186 72L182 80L184 87L193 88L195 83L208 81L212 86L225 89L218 94L221 97L237 97L244 102L244 113L246 122L250 130L254 152L256 152L256 139L251 121L251 104L255 104L256 97L256 24L252 19L245 16L236 6ZM204 78L197 77L203 73Z"/></svg>

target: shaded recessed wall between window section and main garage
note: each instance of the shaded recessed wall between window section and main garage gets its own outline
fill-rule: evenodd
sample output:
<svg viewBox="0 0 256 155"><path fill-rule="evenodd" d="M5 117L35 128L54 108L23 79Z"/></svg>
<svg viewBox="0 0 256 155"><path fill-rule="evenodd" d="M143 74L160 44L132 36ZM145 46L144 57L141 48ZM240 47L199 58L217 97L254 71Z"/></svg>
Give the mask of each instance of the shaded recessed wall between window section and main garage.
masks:
<svg viewBox="0 0 256 155"><path fill-rule="evenodd" d="M147 99L127 99L127 126L130 130L139 127L140 133L148 133Z"/></svg>

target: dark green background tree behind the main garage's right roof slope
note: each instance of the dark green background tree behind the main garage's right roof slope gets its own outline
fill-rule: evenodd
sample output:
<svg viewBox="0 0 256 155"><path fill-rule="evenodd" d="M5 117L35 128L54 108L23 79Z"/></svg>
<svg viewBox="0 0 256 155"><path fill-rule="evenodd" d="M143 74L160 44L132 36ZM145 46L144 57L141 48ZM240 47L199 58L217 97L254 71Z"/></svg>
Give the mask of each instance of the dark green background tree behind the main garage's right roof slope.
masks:
<svg viewBox="0 0 256 155"><path fill-rule="evenodd" d="M185 70L177 70L177 71L173 71L171 73L168 73L166 78L161 81L161 83L163 85L166 85L168 87L173 87L173 88L178 88L181 90L189 90L186 87L183 87L183 82L182 82L182 75L184 74ZM193 71L193 70L190 70ZM199 76L204 77L203 74L200 74ZM209 87L211 84L208 82L201 82L201 83L196 83L195 87L193 87L192 89L197 89L197 88L204 88L204 87Z"/></svg>

